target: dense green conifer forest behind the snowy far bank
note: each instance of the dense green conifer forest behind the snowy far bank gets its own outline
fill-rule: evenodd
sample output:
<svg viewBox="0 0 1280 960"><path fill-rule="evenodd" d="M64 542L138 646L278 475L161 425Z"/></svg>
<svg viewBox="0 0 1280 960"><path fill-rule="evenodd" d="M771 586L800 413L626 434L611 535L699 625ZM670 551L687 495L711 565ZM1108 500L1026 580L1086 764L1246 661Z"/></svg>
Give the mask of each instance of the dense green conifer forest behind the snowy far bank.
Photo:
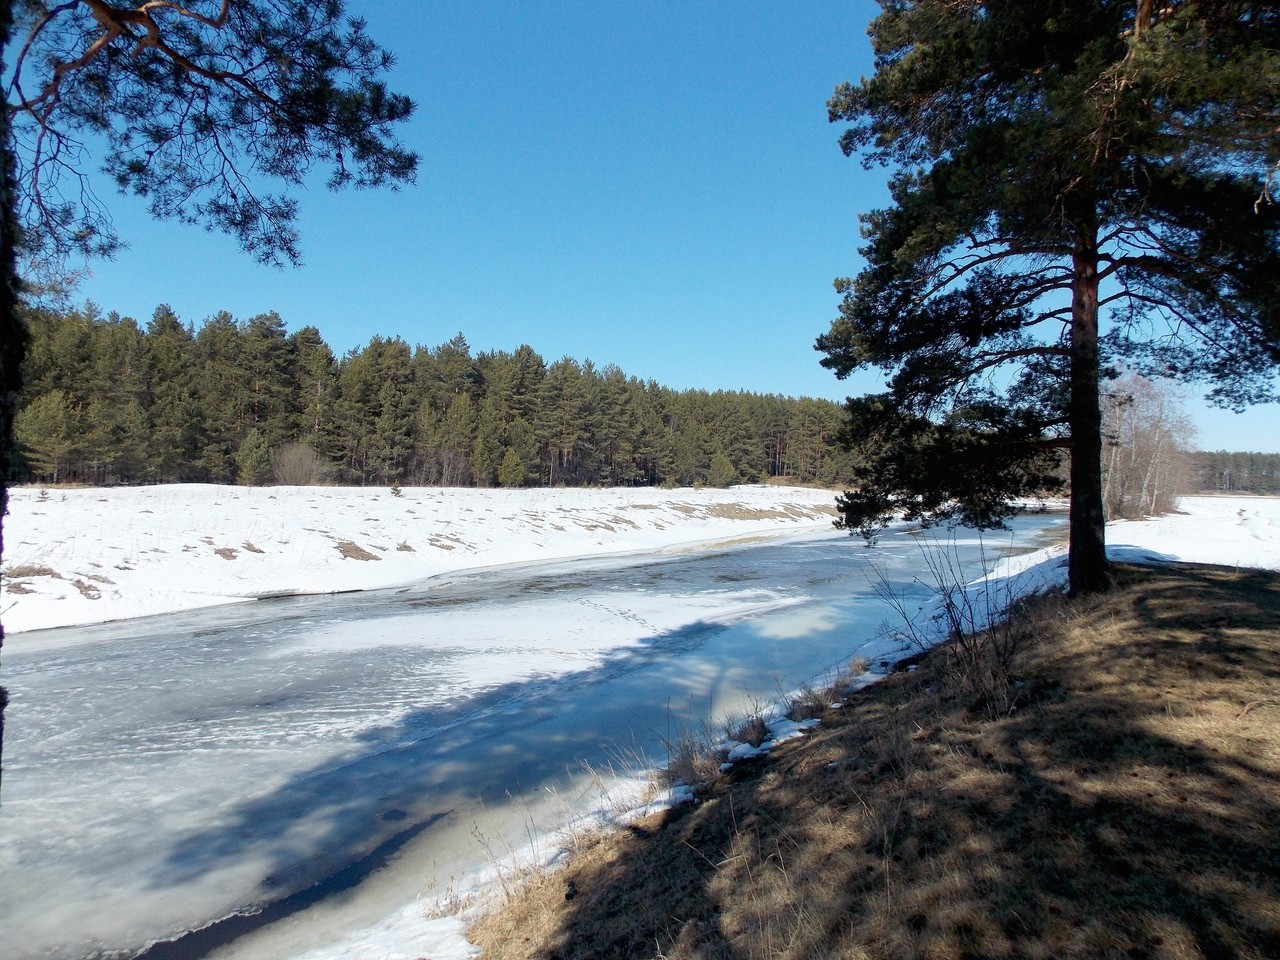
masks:
<svg viewBox="0 0 1280 960"><path fill-rule="evenodd" d="M675 390L531 347L374 337L338 357L275 312L198 328L27 311L17 481L840 485L837 403Z"/></svg>

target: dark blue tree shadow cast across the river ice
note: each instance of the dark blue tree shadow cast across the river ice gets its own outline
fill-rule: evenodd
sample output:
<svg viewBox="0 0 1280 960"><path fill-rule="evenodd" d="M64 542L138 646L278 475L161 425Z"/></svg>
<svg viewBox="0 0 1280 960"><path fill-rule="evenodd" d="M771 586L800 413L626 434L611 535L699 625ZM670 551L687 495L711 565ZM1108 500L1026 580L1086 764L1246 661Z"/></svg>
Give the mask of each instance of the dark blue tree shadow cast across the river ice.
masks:
<svg viewBox="0 0 1280 960"><path fill-rule="evenodd" d="M616 732L639 731L635 762L660 762L672 724L695 726L703 704L655 701L653 690L681 690L689 660L721 623L692 623L609 654L596 667L554 684L541 680L500 685L471 699L413 710L394 726L367 731L353 750L289 777L278 788L236 804L216 823L183 836L150 877L169 890L234 867L262 861L260 892L237 915L165 941L140 954L146 960L192 960L278 919L343 893L383 868L399 849L422 835L443 832L442 860L468 863L502 855L527 840L530 810L549 791L581 780L581 762L596 768L625 762ZM731 664L699 662L700 680ZM712 675L705 673L712 672ZM618 678L626 677L620 684ZM607 696L604 691L607 692ZM591 724L580 707L591 704ZM485 837L474 827L481 809L515 835ZM492 849L485 845L492 842ZM406 899L416 891L406 891Z"/></svg>

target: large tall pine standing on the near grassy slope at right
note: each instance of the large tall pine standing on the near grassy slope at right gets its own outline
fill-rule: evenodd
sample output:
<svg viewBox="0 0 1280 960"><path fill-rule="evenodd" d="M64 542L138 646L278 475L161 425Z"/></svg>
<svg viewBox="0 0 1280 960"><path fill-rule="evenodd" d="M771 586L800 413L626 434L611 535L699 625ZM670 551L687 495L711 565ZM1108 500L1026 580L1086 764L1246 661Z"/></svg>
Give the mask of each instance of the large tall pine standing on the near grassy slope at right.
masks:
<svg viewBox="0 0 1280 960"><path fill-rule="evenodd" d="M844 521L998 525L1057 486L1068 451L1071 589L1105 589L1108 355L1207 378L1228 403L1276 393L1280 10L882 6L876 74L829 101L854 124L846 152L897 169L818 340L840 376L890 375L849 403L864 460Z"/></svg>

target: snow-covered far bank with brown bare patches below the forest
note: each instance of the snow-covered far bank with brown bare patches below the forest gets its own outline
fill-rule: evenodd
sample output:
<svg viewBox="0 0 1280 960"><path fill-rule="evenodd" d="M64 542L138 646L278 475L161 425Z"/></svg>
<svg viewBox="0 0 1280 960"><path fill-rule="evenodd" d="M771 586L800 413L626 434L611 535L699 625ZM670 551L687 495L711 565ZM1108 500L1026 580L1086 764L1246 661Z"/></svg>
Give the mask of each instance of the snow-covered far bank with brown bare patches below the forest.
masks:
<svg viewBox="0 0 1280 960"><path fill-rule="evenodd" d="M5 631L288 594L372 590L462 570L678 549L826 526L829 490L184 484L19 488L5 518Z"/></svg>

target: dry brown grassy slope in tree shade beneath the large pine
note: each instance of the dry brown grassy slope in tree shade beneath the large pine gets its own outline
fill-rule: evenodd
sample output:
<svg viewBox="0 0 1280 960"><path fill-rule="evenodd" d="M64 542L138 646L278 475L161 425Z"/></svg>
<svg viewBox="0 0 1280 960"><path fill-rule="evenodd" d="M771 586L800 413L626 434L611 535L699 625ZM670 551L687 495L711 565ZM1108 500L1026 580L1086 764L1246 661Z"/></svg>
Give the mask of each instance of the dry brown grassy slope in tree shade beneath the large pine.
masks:
<svg viewBox="0 0 1280 960"><path fill-rule="evenodd" d="M1028 611L1009 686L933 652L472 934L503 959L1280 957L1280 576L1121 579Z"/></svg>

